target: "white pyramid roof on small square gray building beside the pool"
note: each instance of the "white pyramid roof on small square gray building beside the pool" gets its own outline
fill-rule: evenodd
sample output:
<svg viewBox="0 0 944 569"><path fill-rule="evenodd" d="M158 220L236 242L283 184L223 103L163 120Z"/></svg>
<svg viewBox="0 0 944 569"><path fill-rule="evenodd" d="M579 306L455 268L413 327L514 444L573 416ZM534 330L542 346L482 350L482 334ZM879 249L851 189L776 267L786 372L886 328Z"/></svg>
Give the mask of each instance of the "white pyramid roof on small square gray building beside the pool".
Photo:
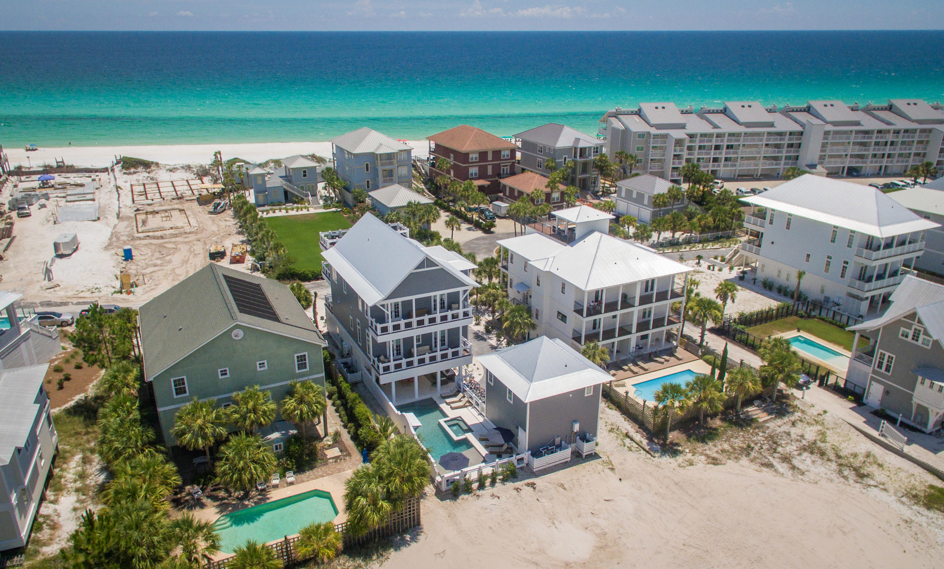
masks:
<svg viewBox="0 0 944 569"><path fill-rule="evenodd" d="M525 403L612 379L561 340L547 336L480 355L478 359Z"/></svg>

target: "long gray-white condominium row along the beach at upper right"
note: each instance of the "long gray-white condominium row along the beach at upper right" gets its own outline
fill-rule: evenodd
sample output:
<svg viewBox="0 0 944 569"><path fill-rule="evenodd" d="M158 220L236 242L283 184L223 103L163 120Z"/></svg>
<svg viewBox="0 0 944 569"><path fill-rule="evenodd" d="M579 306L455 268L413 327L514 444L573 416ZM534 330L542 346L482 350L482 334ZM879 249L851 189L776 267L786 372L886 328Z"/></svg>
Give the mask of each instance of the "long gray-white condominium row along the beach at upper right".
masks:
<svg viewBox="0 0 944 569"><path fill-rule="evenodd" d="M782 108L726 101L699 110L640 103L617 107L599 123L611 157L619 150L635 154L643 172L676 183L686 163L723 179L780 176L790 166L841 176L899 175L929 161L944 167L944 110L920 99Z"/></svg>

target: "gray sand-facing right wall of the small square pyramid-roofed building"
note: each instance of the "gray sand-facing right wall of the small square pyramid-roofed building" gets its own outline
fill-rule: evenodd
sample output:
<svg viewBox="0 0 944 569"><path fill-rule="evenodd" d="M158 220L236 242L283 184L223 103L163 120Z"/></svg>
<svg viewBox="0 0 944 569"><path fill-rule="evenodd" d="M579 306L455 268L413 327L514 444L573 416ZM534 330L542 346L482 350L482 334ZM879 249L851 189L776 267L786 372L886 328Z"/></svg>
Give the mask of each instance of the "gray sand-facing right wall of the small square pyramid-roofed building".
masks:
<svg viewBox="0 0 944 569"><path fill-rule="evenodd" d="M581 423L579 433L598 435L600 393L602 389L596 385L592 395L584 395L583 389L577 389L528 404L531 406L528 450L533 453L554 437L572 442L571 431L575 421Z"/></svg>

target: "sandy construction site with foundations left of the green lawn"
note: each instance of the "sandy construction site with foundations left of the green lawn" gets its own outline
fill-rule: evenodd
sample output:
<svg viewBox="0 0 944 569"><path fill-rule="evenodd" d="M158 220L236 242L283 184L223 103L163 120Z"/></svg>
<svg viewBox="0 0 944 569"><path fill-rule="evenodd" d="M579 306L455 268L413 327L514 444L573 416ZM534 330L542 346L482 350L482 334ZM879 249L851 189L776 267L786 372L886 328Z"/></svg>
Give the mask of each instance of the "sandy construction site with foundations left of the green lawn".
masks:
<svg viewBox="0 0 944 569"><path fill-rule="evenodd" d="M209 263L211 248L240 244L231 214L210 215L219 187L160 166L9 176L0 288L33 306L140 306ZM234 260L248 269L244 254Z"/></svg>

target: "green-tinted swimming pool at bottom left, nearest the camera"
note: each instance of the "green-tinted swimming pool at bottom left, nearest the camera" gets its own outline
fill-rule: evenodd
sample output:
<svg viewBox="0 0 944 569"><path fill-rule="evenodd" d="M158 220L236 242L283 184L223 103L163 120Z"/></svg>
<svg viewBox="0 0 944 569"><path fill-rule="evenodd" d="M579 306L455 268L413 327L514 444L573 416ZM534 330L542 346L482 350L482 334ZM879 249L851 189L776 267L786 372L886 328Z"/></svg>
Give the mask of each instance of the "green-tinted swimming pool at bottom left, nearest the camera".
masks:
<svg viewBox="0 0 944 569"><path fill-rule="evenodd" d="M330 522L338 515L331 494L312 490L274 500L252 508L231 511L215 523L220 534L220 550L233 553L246 540L267 543L298 530L312 522Z"/></svg>

